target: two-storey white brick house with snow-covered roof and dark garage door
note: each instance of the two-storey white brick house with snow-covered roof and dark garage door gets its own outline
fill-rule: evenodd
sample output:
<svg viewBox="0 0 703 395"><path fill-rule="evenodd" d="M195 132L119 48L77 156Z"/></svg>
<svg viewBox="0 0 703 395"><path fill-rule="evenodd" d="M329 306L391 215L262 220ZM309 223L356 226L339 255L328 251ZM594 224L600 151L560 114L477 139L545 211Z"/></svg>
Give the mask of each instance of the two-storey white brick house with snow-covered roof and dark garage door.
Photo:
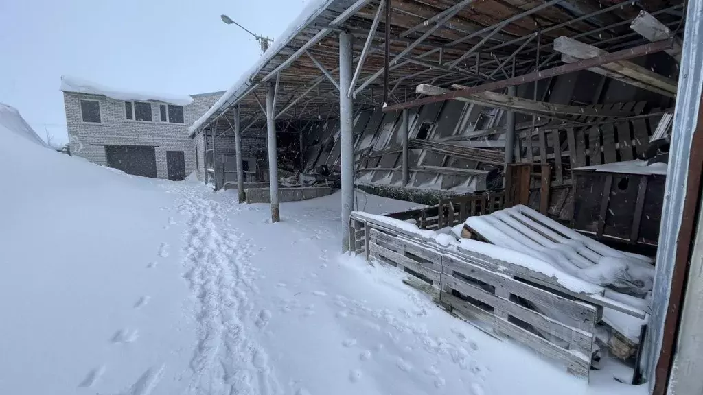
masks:
<svg viewBox="0 0 703 395"><path fill-rule="evenodd" d="M66 124L72 155L127 173L183 179L196 167L188 126L223 92L191 96L129 93L62 77ZM199 177L200 178L200 177Z"/></svg>

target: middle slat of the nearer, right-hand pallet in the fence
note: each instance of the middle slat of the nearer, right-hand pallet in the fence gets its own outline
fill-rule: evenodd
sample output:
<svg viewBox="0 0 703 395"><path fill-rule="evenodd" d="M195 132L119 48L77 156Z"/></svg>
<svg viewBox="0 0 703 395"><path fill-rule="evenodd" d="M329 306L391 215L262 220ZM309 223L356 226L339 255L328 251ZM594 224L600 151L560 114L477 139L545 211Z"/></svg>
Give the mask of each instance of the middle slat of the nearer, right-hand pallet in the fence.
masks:
<svg viewBox="0 0 703 395"><path fill-rule="evenodd" d="M505 287L501 288L508 290L508 288ZM482 288L472 285L471 283L466 283L460 278L453 276L442 276L441 289L446 292L450 292L449 289L456 290L460 294L477 299L480 302L488 304L489 306L493 306L495 309L505 311L505 313L508 313L510 316L514 316L515 318L519 318L520 320L533 325L537 330L542 330L550 335L564 340L565 342L569 342L569 344L574 346L576 351L581 352L583 355L591 355L591 348L593 347L593 332L588 332L587 330L582 330L581 328L572 328L571 326L565 323L560 323L559 321L549 318L538 311L530 310L520 304L511 302L510 299L498 295L498 292L496 292L496 294L491 294ZM508 296L509 295L510 292L508 292Z"/></svg>

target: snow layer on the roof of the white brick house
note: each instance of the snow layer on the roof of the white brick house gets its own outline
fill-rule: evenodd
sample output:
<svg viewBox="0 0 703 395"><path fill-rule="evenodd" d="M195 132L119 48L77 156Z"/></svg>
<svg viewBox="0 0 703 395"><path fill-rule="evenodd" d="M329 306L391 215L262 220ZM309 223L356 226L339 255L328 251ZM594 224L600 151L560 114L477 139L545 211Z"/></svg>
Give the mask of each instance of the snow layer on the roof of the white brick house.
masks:
<svg viewBox="0 0 703 395"><path fill-rule="evenodd" d="M61 90L64 92L103 95L108 96L108 98L124 101L161 101L174 105L189 105L193 103L193 98L188 95L120 91L118 89L110 88L109 86L96 84L95 82L90 82L78 77L72 77L70 75L61 76Z"/></svg>

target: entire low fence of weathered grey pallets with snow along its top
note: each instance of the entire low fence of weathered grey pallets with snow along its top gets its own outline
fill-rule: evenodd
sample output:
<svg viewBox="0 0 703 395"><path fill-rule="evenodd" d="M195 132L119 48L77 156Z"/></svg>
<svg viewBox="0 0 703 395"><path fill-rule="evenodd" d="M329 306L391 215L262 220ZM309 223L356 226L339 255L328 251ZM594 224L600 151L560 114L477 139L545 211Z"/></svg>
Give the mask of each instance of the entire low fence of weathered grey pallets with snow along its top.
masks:
<svg viewBox="0 0 703 395"><path fill-rule="evenodd" d="M425 291L439 295L437 301L457 316L490 325L501 335L559 361L569 373L588 378L595 323L602 316L602 306L592 301L602 299L601 288L584 287L593 292L587 295L574 287L576 291L569 290L569 295L560 292L567 288L543 273L458 245L444 245L442 235L385 216L354 212L350 226L354 229L350 245L365 253L368 261L396 266L410 274L413 283L419 279L427 284ZM558 318L546 316L547 310L559 311Z"/></svg>

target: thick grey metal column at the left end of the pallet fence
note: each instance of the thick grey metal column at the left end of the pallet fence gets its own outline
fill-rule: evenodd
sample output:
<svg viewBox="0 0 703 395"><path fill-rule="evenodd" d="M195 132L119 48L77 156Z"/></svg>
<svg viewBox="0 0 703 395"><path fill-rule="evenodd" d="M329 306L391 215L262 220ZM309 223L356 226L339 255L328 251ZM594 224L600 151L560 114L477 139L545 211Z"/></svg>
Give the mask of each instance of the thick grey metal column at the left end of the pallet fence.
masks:
<svg viewBox="0 0 703 395"><path fill-rule="evenodd" d="M342 252L349 245L349 215L354 210L354 104L345 94L352 86L352 34L340 33L340 164L342 167Z"/></svg>

